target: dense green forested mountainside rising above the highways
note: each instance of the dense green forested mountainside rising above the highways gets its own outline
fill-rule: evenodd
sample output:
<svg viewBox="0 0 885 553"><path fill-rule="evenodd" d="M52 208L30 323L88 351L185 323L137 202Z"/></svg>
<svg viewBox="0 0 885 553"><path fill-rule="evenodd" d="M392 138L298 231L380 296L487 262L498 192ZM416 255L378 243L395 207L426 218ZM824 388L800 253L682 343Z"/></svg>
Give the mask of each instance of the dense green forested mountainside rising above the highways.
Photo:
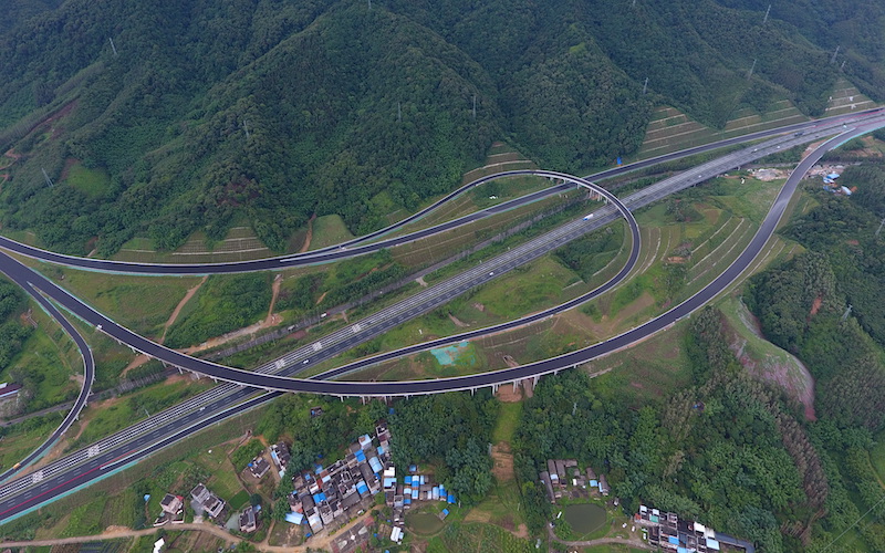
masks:
<svg viewBox="0 0 885 553"><path fill-rule="evenodd" d="M814 4L763 24L752 0L58 3L0 27L0 222L75 253L233 223L282 250L313 213L383 226L494 139L580 171L634 152L655 105L720 126L780 97L820 115L841 74L885 91L882 25L831 64ZM830 4L842 32L885 14Z"/></svg>

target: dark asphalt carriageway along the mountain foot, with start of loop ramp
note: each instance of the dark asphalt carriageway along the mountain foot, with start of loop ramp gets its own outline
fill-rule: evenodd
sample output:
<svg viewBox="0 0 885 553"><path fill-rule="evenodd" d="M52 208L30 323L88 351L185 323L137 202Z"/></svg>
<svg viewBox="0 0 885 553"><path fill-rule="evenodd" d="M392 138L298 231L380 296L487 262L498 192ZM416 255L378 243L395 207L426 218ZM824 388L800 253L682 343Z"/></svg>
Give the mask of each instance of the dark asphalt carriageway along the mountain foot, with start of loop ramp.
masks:
<svg viewBox="0 0 885 553"><path fill-rule="evenodd" d="M794 133L794 132L803 132L814 128L820 128L826 125L837 125L842 122L856 122L863 117L874 116L875 114L879 113L883 108L873 108L866 109L863 112L857 112L856 114L851 115L837 115L833 117L825 117L822 119L810 121L805 123L795 123L792 125L787 125L784 127L779 127L777 129L769 129L769 131L760 131L757 133L752 133L749 135L742 135L735 138L728 138L725 140L719 140L711 144L706 144L702 146L696 146L693 148L687 148L680 152L674 152L671 154L665 154L662 156L657 156L649 159L644 159L642 161L636 161L629 165L624 165L621 167L613 167L611 169L606 169L587 177L584 177L587 180L595 181L602 180L605 178L611 178L617 175L622 175L625 173L634 171L637 169L643 169L646 167L650 167L654 165L658 165L666 161L671 161L676 159L680 159L687 156L701 154L706 152L711 152L715 149L719 149L722 147L743 144L751 140L757 140L770 136L777 136L784 133ZM511 176L520 175L520 171L504 171L504 174L510 174ZM375 232L371 232L363 237L355 238L347 242L343 242L341 244L326 247L323 249L309 251L299 254L289 254L289 255L281 255L275 258L266 258L259 259L253 261L240 261L240 262L229 262L229 263L137 263L137 262L127 262L127 261L112 261L112 260L102 260L102 259L91 259L91 258L81 258L75 255L66 255L62 253L55 253L48 250L43 250L40 248L34 248L32 246L23 244L21 242L17 242L6 237L0 237L0 247L6 248L9 251L13 251L15 253L20 253L22 255L28 255L30 258L40 259L43 261L51 261L54 263L60 263L69 267L77 267L81 269L91 269L91 270L98 270L98 271L112 271L112 272L121 272L121 273L137 273L137 274L218 274L218 273L236 273L236 272L250 272L250 271L262 271L262 270L280 270L287 269L291 267L299 267L305 264L315 264L315 263L325 263L332 261L340 261L343 259L347 259L354 255L362 255L366 253L371 253L377 251L382 248L392 248L394 246L399 246L408 242L413 242L416 240L420 240L423 238L431 237L444 232L446 230L450 230L464 225L468 225L469 222L476 221L478 219L482 219L485 217L489 217L492 215L497 215L509 209L513 209L519 205L523 205L530 201L537 201L542 199L546 196L553 194L560 194L566 189L571 189L572 187L568 186L559 186L552 187L545 190L540 190L533 192L523 198L517 198L507 202L503 202L498 206L492 206L488 209L482 211L478 211L476 213L470 213L468 216L455 219L452 221L447 221L428 229L418 230L416 232L405 234L402 237L395 237L386 240L382 240L378 242L374 242L371 244L365 244L365 242L372 241L376 238L381 238L385 234L388 234L397 229L405 227L406 225L417 221L425 216L427 216L433 210L437 209L439 206L448 202L449 200L460 196L461 194L480 186L489 180L494 178L501 178L504 174L497 174L490 175L487 177L481 177L476 179L467 185L461 186L460 188L449 192L448 195L444 196L442 198L438 199L430 206L419 210L418 212L403 219L402 221L386 227L384 229L377 230ZM363 244L363 246L360 246Z"/></svg>

